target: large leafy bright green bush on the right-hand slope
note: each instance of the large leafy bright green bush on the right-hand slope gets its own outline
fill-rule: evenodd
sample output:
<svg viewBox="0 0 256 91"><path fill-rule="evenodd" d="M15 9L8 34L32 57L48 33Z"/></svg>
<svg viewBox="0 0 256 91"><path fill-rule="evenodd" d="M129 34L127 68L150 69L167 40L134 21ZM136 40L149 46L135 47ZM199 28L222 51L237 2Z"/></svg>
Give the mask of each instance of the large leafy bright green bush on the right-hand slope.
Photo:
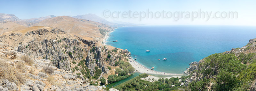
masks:
<svg viewBox="0 0 256 91"><path fill-rule="evenodd" d="M204 63L199 65L196 74L202 74L202 80L196 80L189 84L191 90L206 91L210 81L206 77L211 77L212 90L214 91L234 91L246 90L244 81L239 80L236 75L246 68L234 54L212 54L205 58Z"/></svg>

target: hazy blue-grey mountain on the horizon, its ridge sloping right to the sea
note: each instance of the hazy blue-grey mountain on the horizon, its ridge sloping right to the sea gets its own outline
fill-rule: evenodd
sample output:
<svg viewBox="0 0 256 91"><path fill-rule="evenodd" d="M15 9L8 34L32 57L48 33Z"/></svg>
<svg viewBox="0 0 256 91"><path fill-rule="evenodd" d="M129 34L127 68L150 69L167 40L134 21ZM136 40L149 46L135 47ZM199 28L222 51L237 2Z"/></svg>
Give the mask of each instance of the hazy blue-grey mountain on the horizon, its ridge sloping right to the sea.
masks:
<svg viewBox="0 0 256 91"><path fill-rule="evenodd" d="M112 27L122 27L122 26L135 26L138 24L132 24L132 23L125 23L125 22L109 22L95 14L86 14L86 15L78 15L78 16L74 16L74 18L78 18L78 19L86 19L86 20L91 20L91 21L95 21L95 22L99 22L99 23L103 23L103 24L107 24L110 25Z"/></svg>

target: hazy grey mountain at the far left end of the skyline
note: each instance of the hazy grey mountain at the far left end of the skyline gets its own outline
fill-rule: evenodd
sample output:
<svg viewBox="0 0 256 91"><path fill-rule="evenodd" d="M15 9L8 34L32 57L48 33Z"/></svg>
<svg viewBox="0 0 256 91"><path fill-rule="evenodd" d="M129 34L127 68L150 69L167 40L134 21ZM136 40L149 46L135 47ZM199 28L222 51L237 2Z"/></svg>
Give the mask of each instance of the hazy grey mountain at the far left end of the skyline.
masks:
<svg viewBox="0 0 256 91"><path fill-rule="evenodd" d="M21 19L19 19L18 17L16 17L13 14L4 14L4 13L0 13L0 21L4 22L4 21L20 21Z"/></svg>

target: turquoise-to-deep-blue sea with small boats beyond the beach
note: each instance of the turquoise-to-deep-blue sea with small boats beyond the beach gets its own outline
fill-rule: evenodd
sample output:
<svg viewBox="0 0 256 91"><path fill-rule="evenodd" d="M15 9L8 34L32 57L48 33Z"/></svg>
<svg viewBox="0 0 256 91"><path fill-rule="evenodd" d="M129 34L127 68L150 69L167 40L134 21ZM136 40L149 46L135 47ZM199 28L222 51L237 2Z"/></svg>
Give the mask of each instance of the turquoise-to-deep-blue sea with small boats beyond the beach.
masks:
<svg viewBox="0 0 256 91"><path fill-rule="evenodd" d="M106 44L128 49L137 62L148 68L181 74L191 62L243 47L254 38L256 27L252 26L133 26L115 29Z"/></svg>

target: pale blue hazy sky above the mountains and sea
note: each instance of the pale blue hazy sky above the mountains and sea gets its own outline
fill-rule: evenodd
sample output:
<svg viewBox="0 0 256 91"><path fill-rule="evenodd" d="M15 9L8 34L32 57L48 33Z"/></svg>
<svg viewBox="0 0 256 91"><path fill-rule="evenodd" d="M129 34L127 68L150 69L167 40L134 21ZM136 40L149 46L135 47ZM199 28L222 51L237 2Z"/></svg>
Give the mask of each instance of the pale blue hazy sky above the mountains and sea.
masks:
<svg viewBox="0 0 256 91"><path fill-rule="evenodd" d="M34 17L77 16L88 13L96 14L108 21L123 21L147 25L256 25L256 0L1 0L0 13L14 14L20 19ZM104 10L109 10L112 16L116 12L153 12L153 18L136 17L106 17ZM165 14L156 18L156 12ZM199 10L212 12L209 19L192 18L192 12ZM181 18L181 12L190 12L189 18ZM237 12L236 18L216 18L215 12ZM167 18L166 12L172 17ZM177 15L174 17L174 12ZM179 13L177 13L179 12ZM219 15L220 13L217 13ZM109 13L107 13L109 15ZM158 13L157 13L158 14ZM188 13L187 13L188 14ZM120 14L119 14L120 15ZM140 14L142 15L142 14ZM150 14L145 14L150 15ZM165 17L163 15L166 15ZM184 14L185 15L185 14ZM196 13L194 17L196 17ZM136 14L135 14L136 16ZM142 15L144 16L144 15ZM159 16L159 14L158 14ZM171 14L169 13L169 17ZM179 16L179 17L178 17ZM182 15L183 16L183 15ZM185 16L183 16L185 17Z"/></svg>

